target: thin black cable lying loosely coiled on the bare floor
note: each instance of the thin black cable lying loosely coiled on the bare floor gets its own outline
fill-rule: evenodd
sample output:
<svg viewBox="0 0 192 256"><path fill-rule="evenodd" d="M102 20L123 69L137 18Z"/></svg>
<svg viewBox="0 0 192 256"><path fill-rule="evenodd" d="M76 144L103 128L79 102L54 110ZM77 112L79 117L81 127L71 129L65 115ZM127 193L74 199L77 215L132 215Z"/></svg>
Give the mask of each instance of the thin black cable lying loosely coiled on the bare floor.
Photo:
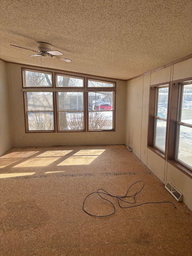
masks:
<svg viewBox="0 0 192 256"><path fill-rule="evenodd" d="M128 196L127 194L128 194L128 191L130 190L130 188L131 188L133 185L135 185L136 183L138 183L138 182L142 182L142 183L143 183L143 186L141 187L141 189L140 189L139 191L137 191L135 194L132 194L132 195ZM97 192L92 192L91 194L89 194L88 196L85 197L85 200L86 200L90 195L92 195L92 194L98 194L102 199L104 199L104 200L110 202L110 204L113 206L113 213L110 213L110 214L108 214L108 215L93 215L93 214L87 212L87 211L85 210L85 208L84 208L85 200L83 201L82 209L83 209L84 212L86 212L87 214L89 214L89 215L91 215L91 216L94 216L94 217L107 217L107 216L113 215L113 214L115 213L115 211L116 211L114 204L113 204L110 200L108 200L108 199L102 197L102 194L105 194L105 195L108 195L108 196L110 196L110 197L116 198L117 201L118 201L118 204L119 204L119 206L120 206L121 208L137 207L137 206L141 206L141 205L147 204L147 203L172 203L172 202L164 201L164 202L147 202L147 203L141 203L141 204L138 204L138 205L126 206L126 207L120 205L120 202L121 202L121 201L122 201L122 202L125 202L125 203L129 203L129 204L134 204L134 203L136 203L135 196L136 196L137 194L139 194L139 193L142 191L142 189L144 188L144 185L145 185L145 182L144 182L144 181L141 181L141 180L140 180L140 181L137 181L137 182L135 182L135 183L133 183L133 184L128 188L127 193L125 194L125 196L114 196L114 195L109 194L109 193L108 193L107 191L105 191L104 189L99 188L99 189L97 190ZM132 197L132 198L134 199L134 202L133 202L133 203L130 203L130 202L127 202L127 201L123 200L123 199L125 199L125 198L127 198L127 197ZM174 203L172 203L172 204L174 205ZM176 208L175 205L174 205L174 207Z"/></svg>

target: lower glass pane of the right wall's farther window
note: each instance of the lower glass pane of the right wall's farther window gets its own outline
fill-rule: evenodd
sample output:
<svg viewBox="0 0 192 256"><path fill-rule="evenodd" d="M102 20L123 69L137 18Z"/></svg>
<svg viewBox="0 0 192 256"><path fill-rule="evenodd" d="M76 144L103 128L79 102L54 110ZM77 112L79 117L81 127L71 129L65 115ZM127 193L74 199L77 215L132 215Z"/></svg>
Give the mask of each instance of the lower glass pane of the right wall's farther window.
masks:
<svg viewBox="0 0 192 256"><path fill-rule="evenodd" d="M166 138L166 125L167 122L155 119L155 146L165 151L165 138Z"/></svg>

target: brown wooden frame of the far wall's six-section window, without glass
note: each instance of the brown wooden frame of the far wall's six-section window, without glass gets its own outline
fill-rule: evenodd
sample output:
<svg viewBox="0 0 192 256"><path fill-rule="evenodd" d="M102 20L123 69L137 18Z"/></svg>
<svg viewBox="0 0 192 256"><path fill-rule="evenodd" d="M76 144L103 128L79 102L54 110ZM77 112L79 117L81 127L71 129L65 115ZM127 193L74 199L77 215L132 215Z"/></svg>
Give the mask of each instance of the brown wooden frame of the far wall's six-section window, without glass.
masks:
<svg viewBox="0 0 192 256"><path fill-rule="evenodd" d="M26 78L25 78L25 71L34 71L34 72L40 72L45 74L51 74L52 76L52 87L49 86L31 86L26 87ZM21 73L22 73L22 91L23 91L23 101L24 101L24 114L25 114L25 131L26 133L50 133L50 132L104 132L104 131L115 131L115 114L116 114L116 82L110 81L110 80L100 80L95 78L89 78L89 77L81 77L76 75L71 75L70 72L63 73L61 72L52 72L52 71L46 71L45 69L39 70L39 69L32 69L32 68L25 68L21 67ZM64 87L58 87L57 86L57 76L67 76L67 77L74 77L74 78L80 78L83 79L83 87L71 87L71 86L64 86ZM88 87L88 80L95 80L98 82L105 82L105 83L112 83L113 87ZM52 92L53 94L53 120L54 120L54 130L51 131L29 131L29 124L28 124L28 108L27 108L27 92ZM84 130L59 130L59 124L58 124L58 99L57 95L58 92L83 92L83 113L84 113ZM113 129L112 130L88 130L88 92L113 92Z"/></svg>

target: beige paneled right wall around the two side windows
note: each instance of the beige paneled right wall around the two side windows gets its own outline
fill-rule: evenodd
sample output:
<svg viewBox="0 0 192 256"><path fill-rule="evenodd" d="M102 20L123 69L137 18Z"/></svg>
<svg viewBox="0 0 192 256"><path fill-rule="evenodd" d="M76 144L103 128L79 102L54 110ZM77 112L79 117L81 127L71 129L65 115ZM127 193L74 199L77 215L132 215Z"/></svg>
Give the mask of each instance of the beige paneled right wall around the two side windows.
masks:
<svg viewBox="0 0 192 256"><path fill-rule="evenodd" d="M164 184L171 182L192 210L192 179L147 149L149 86L187 77L192 77L192 59L127 82L125 144Z"/></svg>

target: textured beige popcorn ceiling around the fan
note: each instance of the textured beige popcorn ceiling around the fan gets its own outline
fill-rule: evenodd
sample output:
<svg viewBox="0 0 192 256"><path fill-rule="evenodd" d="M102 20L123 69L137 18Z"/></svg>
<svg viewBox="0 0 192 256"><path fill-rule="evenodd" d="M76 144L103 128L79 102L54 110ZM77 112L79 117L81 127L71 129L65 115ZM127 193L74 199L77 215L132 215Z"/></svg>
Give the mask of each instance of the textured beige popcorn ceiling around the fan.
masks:
<svg viewBox="0 0 192 256"><path fill-rule="evenodd" d="M191 0L19 0L0 6L0 58L129 79L192 53ZM37 42L72 62L29 57Z"/></svg>

